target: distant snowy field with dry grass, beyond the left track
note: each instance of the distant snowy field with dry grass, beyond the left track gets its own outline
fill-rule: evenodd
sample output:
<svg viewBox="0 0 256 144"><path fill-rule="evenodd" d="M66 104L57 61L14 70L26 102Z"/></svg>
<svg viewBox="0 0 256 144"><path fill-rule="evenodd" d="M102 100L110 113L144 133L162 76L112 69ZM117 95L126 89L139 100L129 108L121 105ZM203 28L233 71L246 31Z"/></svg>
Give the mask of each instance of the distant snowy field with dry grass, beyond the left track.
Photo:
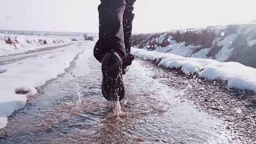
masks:
<svg viewBox="0 0 256 144"><path fill-rule="evenodd" d="M29 50L36 50L40 48L63 46L65 44L72 44L77 41L84 40L84 38L81 36L10 35L10 38L13 41L15 41L15 37L17 37L18 40L18 43L16 42L15 44L16 46L14 46L14 44L6 44L2 35L2 37L0 38L0 56L19 54L28 52ZM77 41L73 41L73 39ZM43 43L44 40L46 40L47 44Z"/></svg>

